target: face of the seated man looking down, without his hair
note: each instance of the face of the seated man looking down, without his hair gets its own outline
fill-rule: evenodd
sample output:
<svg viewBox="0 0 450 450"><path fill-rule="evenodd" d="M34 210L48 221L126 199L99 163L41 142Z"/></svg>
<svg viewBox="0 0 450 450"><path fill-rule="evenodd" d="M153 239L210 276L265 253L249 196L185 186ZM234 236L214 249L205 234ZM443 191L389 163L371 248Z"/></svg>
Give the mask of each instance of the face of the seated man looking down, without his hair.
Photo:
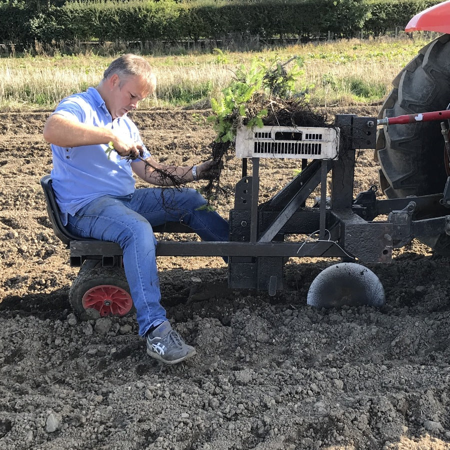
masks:
<svg viewBox="0 0 450 450"><path fill-rule="evenodd" d="M136 75L119 77L113 74L107 82L108 98L105 103L112 118L122 117L128 111L136 109L138 102L145 98L151 89L148 83Z"/></svg>

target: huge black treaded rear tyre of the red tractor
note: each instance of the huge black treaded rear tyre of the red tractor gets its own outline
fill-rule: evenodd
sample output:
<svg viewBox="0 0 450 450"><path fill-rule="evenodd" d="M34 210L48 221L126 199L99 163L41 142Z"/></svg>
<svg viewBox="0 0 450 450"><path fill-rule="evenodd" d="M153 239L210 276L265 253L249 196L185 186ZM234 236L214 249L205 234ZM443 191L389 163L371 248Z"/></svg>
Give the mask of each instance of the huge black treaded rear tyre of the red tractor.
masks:
<svg viewBox="0 0 450 450"><path fill-rule="evenodd" d="M450 103L450 34L425 45L392 81L378 118L438 111ZM384 125L377 132L375 159L381 190L388 198L443 192L447 175L440 122ZM426 218L419 214L414 219ZM418 237L450 256L450 236Z"/></svg>

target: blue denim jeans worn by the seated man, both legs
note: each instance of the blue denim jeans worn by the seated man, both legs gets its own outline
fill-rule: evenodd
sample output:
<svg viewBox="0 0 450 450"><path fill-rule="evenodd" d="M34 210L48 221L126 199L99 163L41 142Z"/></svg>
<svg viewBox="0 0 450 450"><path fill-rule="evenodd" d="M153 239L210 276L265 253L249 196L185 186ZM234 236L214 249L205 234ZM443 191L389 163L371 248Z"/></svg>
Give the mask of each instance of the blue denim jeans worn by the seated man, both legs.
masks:
<svg viewBox="0 0 450 450"><path fill-rule="evenodd" d="M206 200L191 188L149 187L130 195L103 195L68 215L67 229L80 237L117 242L136 308L139 334L166 320L160 304L156 238L151 226L181 221L202 240L228 240L228 222L215 211L198 209Z"/></svg>

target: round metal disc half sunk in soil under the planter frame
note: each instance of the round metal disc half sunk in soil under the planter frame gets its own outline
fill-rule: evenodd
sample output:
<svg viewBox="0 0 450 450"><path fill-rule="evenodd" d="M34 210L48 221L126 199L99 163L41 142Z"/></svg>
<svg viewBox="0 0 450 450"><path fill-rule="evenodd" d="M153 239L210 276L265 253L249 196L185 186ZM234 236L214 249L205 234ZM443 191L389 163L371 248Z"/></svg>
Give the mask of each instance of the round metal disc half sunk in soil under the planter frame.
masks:
<svg viewBox="0 0 450 450"><path fill-rule="evenodd" d="M371 270L355 262L340 262L314 278L306 302L319 308L362 304L380 307L385 297L381 281Z"/></svg>

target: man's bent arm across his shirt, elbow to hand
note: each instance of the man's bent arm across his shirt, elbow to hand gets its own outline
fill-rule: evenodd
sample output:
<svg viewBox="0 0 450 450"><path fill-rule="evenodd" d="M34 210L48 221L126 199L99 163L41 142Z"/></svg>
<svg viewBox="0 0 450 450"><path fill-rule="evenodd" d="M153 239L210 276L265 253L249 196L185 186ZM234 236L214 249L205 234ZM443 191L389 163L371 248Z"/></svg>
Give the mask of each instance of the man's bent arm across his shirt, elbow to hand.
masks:
<svg viewBox="0 0 450 450"><path fill-rule="evenodd" d="M45 122L42 131L44 139L60 147L77 147L80 145L98 145L113 143L114 150L120 156L137 156L141 145L130 139L123 139L112 129L86 125L71 120L60 114L52 114Z"/></svg>

